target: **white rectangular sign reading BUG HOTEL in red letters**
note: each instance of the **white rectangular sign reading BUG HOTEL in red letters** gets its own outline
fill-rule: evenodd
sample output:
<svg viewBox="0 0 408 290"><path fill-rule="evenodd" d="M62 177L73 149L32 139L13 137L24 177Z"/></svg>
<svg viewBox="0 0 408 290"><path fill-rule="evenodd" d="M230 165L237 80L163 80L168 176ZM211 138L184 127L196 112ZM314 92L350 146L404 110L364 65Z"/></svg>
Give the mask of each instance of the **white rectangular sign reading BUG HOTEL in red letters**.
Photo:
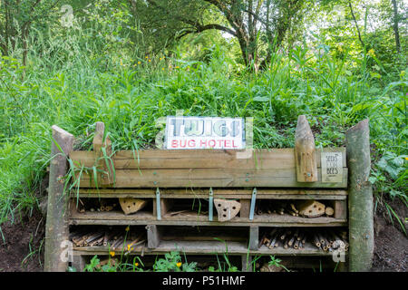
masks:
<svg viewBox="0 0 408 290"><path fill-rule="evenodd" d="M165 147L182 149L245 149L243 118L168 116Z"/></svg>

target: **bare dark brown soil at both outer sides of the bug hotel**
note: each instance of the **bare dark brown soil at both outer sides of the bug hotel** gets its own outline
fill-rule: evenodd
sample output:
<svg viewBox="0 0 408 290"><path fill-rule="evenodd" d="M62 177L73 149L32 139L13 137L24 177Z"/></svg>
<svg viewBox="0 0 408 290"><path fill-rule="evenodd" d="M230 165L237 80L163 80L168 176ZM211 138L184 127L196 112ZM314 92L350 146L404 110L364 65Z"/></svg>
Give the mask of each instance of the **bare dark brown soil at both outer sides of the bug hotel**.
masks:
<svg viewBox="0 0 408 290"><path fill-rule="evenodd" d="M401 202L391 204L400 217L407 217ZM377 208L374 217L374 272L407 272L408 239L386 220L384 210ZM396 223L394 221L394 223ZM44 266L45 218L35 211L31 217L1 226L5 243L0 240L0 272L41 272ZM399 227L399 225L397 226Z"/></svg>

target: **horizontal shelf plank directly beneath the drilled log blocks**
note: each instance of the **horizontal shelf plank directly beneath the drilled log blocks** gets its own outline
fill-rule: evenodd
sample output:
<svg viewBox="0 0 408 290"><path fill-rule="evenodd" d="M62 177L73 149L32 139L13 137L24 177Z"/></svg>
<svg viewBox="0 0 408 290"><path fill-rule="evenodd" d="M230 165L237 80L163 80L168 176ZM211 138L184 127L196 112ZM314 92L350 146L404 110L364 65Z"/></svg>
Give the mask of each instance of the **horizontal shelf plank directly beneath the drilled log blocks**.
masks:
<svg viewBox="0 0 408 290"><path fill-rule="evenodd" d="M73 212L70 218L72 225L168 225L168 226L262 226L262 227L342 227L347 225L346 219L335 218L301 218L290 215L263 214L255 216L253 220L249 218L235 217L227 222L209 221L207 215L195 212L184 212L179 215L170 214L162 216L157 220L151 212L139 211L126 216L120 211L108 212Z"/></svg>

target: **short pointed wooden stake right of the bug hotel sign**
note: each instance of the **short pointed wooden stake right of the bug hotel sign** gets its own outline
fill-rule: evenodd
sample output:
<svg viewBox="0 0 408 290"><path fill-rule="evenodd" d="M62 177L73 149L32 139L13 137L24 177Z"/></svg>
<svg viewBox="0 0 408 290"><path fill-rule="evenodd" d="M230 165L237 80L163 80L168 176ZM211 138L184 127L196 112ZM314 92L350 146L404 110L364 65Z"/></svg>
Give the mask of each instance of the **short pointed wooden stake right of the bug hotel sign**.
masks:
<svg viewBox="0 0 408 290"><path fill-rule="evenodd" d="M318 181L315 138L305 115L300 115L297 119L295 160L298 182Z"/></svg>

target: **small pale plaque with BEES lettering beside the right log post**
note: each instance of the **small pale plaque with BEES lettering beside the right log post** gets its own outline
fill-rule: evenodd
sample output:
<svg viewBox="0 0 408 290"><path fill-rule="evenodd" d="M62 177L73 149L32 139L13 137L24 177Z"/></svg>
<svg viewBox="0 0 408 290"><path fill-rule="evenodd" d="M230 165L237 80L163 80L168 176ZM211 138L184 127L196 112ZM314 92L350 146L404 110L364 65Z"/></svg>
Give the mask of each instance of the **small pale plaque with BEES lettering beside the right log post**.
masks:
<svg viewBox="0 0 408 290"><path fill-rule="evenodd" d="M343 153L321 152L322 182L342 182Z"/></svg>

